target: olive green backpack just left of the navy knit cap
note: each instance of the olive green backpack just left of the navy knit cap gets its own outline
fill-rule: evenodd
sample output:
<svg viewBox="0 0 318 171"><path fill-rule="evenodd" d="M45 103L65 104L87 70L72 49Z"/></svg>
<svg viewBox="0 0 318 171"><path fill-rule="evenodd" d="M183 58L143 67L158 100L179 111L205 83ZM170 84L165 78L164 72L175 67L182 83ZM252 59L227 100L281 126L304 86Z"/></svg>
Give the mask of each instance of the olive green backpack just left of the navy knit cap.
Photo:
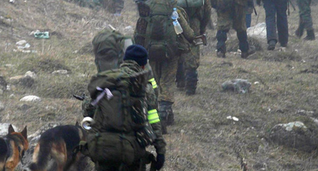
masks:
<svg viewBox="0 0 318 171"><path fill-rule="evenodd" d="M97 71L117 69L123 61L125 44L129 41L130 38L112 29L99 32L92 41Z"/></svg>

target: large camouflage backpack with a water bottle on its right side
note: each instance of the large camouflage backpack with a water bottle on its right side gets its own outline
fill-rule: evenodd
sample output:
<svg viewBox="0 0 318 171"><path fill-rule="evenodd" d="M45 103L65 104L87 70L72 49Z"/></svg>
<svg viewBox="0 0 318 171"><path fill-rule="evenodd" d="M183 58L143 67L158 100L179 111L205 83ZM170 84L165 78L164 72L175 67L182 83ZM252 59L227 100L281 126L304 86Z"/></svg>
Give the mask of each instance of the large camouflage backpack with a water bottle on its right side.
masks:
<svg viewBox="0 0 318 171"><path fill-rule="evenodd" d="M135 43L148 50L150 60L175 56L178 53L177 34L171 14L176 2L148 0L137 4L140 18L136 25Z"/></svg>

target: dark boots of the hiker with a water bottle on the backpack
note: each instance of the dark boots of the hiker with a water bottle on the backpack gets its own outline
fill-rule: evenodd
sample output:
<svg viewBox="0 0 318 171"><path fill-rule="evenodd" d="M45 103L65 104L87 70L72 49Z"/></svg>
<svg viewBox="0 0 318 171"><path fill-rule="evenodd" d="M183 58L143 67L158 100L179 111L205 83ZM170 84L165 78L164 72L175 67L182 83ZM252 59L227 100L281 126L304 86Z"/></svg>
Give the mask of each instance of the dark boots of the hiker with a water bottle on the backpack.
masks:
<svg viewBox="0 0 318 171"><path fill-rule="evenodd" d="M162 130L163 133L167 133L167 125L172 125L174 123L174 115L172 111L172 102L169 101L160 101L159 102L159 115L160 115L160 120L162 122ZM164 131L165 130L165 131Z"/></svg>

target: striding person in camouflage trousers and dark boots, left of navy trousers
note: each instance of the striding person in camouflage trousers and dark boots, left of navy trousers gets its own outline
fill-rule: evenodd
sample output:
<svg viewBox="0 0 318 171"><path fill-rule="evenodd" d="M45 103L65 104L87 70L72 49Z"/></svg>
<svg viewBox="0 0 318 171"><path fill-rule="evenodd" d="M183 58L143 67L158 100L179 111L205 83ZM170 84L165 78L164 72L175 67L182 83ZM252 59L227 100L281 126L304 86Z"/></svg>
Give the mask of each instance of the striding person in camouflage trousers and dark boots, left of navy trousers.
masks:
<svg viewBox="0 0 318 171"><path fill-rule="evenodd" d="M241 57L247 58L255 53L255 47L249 46L246 33L246 5L247 0L215 0L217 1L218 32L217 32L217 56L225 58L227 33L231 26L236 31L239 39L239 47L242 51Z"/></svg>

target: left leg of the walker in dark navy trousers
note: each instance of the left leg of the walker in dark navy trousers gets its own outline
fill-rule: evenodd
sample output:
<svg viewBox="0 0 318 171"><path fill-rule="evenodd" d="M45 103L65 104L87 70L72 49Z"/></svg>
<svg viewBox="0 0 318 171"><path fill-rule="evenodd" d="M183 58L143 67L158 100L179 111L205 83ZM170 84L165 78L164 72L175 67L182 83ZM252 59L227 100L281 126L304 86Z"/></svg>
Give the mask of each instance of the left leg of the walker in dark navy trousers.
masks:
<svg viewBox="0 0 318 171"><path fill-rule="evenodd" d="M268 50L274 50L277 43L275 1L280 0L263 0L266 15L267 42L269 44Z"/></svg>

